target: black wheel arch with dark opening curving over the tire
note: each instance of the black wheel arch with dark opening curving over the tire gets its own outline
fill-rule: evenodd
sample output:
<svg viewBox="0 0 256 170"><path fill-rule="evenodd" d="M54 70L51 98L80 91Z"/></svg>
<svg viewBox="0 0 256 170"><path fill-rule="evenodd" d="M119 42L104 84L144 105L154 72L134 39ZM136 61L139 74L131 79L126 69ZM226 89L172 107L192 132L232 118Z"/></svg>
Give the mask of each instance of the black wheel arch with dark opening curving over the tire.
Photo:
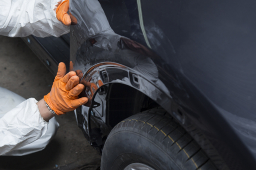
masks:
<svg viewBox="0 0 256 170"><path fill-rule="evenodd" d="M118 74L116 75L116 73ZM105 78L104 74L107 75ZM140 82L139 86L133 84L134 79L131 79L131 77L134 77L133 75L137 76L138 82ZM154 82L146 79L144 75L138 73L136 70L114 62L102 62L88 69L81 82L86 82L84 83L85 89L82 92L82 96L89 98L87 106L90 107L87 111L86 109L81 110L81 113L87 112L87 114L84 114L87 118L84 120L89 122L88 127L84 127L84 125L81 127L84 127L84 134L88 134L88 140L91 145L98 147L100 144L103 146L104 140L111 128L123 119L146 109L160 106L186 129L207 155L214 160L215 164L217 164L216 166L221 165L222 169L227 168L211 142L209 142L207 137L201 133L201 130L194 125L193 121L186 116L188 114L186 110L177 104L171 96L159 89ZM90 83L88 84L87 82ZM98 96L98 99L96 99L96 96ZM102 96L105 96L103 97L106 101L105 103L99 101ZM122 98L122 96L124 97ZM129 104L128 106L127 103ZM99 104L106 105L106 107L98 110ZM132 106L132 108L127 110L129 106ZM122 109L118 110L116 107L127 111L124 113L121 111ZM102 116L99 116L100 111L104 112L101 114ZM105 118L105 120L102 118ZM90 121L91 119L93 121ZM101 138L100 136L102 136L102 134L103 136L105 135L105 137Z"/></svg>

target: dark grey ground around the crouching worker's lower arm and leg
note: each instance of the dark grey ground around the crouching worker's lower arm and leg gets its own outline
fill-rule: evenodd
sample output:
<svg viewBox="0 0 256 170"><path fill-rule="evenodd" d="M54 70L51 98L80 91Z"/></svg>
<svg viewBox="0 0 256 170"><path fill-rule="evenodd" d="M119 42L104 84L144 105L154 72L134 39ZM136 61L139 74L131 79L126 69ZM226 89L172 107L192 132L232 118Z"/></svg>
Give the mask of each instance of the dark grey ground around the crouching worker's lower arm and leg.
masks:
<svg viewBox="0 0 256 170"><path fill-rule="evenodd" d="M20 38L0 36L0 87L40 100L49 93L53 79ZM96 170L100 156L84 138L74 113L56 119L60 127L44 150L27 156L0 156L0 170Z"/></svg>

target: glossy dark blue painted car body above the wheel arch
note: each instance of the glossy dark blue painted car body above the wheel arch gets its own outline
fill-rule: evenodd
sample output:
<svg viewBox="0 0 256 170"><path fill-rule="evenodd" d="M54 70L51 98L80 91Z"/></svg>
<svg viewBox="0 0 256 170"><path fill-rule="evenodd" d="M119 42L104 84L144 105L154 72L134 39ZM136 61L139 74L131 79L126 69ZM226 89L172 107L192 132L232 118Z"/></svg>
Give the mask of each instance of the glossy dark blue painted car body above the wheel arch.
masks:
<svg viewBox="0 0 256 170"><path fill-rule="evenodd" d="M230 170L252 169L255 7L253 0L72 0L78 25L71 27L70 60L84 78L99 63L122 65L127 76L118 78L120 72L109 83L128 79L134 86L129 73L142 77L149 83L140 79L134 88L156 88L147 95L172 115L178 105L186 115L183 127L195 125ZM190 134L204 147L200 136ZM219 169L227 167L220 163Z"/></svg>

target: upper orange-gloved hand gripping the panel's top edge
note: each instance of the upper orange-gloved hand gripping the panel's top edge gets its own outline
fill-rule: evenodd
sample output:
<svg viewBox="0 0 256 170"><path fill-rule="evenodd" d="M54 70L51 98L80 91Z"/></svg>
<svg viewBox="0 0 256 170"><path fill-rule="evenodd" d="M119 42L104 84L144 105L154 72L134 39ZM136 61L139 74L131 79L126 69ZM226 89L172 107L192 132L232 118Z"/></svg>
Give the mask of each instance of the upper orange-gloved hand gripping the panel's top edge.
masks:
<svg viewBox="0 0 256 170"><path fill-rule="evenodd" d="M77 20L71 13L67 14L69 10L69 0L61 2L56 9L56 17L59 21L64 23L66 26L76 25Z"/></svg>

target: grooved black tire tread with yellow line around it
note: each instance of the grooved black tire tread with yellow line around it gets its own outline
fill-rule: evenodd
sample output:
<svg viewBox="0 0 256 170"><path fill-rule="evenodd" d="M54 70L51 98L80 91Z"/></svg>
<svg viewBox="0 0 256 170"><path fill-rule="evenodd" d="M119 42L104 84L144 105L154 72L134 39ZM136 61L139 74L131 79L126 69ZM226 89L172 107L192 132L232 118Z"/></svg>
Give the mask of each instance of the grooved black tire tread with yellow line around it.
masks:
<svg viewBox="0 0 256 170"><path fill-rule="evenodd" d="M154 141L170 153L181 170L217 170L201 147L163 108L153 108L125 119L109 136L122 130L141 133Z"/></svg>

